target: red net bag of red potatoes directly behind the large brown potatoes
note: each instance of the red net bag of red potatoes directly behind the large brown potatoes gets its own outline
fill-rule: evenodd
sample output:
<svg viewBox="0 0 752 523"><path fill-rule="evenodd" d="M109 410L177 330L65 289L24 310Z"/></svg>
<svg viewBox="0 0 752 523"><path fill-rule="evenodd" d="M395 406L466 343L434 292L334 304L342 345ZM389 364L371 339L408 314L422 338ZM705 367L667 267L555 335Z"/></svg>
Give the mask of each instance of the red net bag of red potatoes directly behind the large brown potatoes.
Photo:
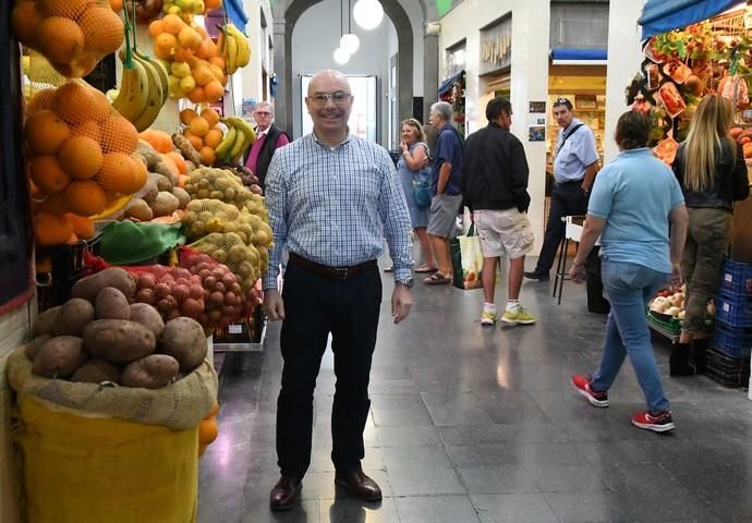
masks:
<svg viewBox="0 0 752 523"><path fill-rule="evenodd" d="M165 320L180 316L197 319L204 314L208 296L201 279L190 270L151 265L135 278L135 301L154 306Z"/></svg>

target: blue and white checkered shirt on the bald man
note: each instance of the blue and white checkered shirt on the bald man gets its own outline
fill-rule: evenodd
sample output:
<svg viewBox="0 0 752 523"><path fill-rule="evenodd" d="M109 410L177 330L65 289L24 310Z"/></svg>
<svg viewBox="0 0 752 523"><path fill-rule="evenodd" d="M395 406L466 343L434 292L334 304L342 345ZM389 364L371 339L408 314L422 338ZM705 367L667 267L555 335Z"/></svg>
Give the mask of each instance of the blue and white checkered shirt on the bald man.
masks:
<svg viewBox="0 0 752 523"><path fill-rule="evenodd" d="M266 206L275 244L264 289L277 287L286 245L311 262L344 268L380 256L386 236L395 280L411 276L408 204L389 154L373 142L350 135L328 147L312 133L277 149Z"/></svg>

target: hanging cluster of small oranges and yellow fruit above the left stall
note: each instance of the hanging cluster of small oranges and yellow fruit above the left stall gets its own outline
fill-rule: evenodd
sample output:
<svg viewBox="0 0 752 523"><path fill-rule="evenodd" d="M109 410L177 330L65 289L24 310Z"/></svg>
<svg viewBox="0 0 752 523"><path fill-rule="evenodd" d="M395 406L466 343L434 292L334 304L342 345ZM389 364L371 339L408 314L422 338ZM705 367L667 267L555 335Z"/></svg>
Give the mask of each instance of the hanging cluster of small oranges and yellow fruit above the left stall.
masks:
<svg viewBox="0 0 752 523"><path fill-rule="evenodd" d="M149 34L155 54L170 62L171 98L187 97L198 104L217 101L225 95L226 61L204 27L168 14L149 24Z"/></svg>

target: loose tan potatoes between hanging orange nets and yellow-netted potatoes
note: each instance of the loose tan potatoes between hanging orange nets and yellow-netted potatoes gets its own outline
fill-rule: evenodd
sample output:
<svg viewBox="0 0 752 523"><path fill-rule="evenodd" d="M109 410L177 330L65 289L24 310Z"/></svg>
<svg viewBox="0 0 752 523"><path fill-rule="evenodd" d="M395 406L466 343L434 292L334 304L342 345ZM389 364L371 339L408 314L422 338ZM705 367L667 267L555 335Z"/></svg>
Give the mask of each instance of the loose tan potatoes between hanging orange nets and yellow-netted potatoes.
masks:
<svg viewBox="0 0 752 523"><path fill-rule="evenodd" d="M184 209L191 196L178 186L179 175L165 163L161 155L141 142L136 156L141 157L149 173L140 197L133 198L125 210L125 217L149 221Z"/></svg>

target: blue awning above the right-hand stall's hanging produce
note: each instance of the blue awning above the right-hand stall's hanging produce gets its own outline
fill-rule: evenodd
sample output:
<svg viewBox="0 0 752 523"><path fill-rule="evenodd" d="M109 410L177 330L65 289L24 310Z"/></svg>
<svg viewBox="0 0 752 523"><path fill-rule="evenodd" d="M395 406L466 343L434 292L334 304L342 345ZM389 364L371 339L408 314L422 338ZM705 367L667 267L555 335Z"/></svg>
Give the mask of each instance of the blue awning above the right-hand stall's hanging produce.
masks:
<svg viewBox="0 0 752 523"><path fill-rule="evenodd" d="M638 24L642 25L642 39L646 40L702 22L741 3L740 0L647 0Z"/></svg>

